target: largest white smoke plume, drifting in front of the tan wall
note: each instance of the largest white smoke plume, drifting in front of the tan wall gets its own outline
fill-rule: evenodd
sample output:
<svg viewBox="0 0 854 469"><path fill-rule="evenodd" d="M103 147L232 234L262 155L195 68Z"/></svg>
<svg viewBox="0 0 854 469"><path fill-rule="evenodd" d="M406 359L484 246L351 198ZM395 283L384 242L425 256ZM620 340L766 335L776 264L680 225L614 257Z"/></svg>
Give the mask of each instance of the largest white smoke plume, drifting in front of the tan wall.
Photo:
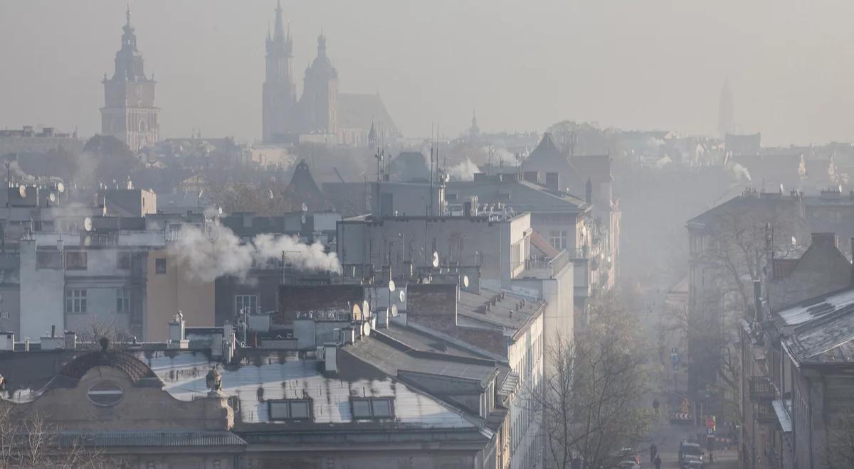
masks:
<svg viewBox="0 0 854 469"><path fill-rule="evenodd" d="M320 243L307 245L291 236L259 234L241 243L237 235L223 226L209 225L208 233L185 225L178 240L170 247L172 254L184 263L196 280L213 281L231 275L245 281L253 265L266 266L282 258L294 269L340 273L341 263L334 252L327 253Z"/></svg>

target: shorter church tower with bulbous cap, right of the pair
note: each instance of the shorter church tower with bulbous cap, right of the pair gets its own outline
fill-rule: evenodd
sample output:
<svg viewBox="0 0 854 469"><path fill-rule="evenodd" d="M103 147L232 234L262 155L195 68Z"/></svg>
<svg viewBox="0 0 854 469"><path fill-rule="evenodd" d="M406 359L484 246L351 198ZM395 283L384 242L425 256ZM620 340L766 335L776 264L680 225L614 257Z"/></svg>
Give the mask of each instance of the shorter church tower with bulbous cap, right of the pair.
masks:
<svg viewBox="0 0 854 469"><path fill-rule="evenodd" d="M326 56L326 37L318 37L318 56L306 69L302 98L302 126L306 132L336 133L338 122L338 71Z"/></svg>

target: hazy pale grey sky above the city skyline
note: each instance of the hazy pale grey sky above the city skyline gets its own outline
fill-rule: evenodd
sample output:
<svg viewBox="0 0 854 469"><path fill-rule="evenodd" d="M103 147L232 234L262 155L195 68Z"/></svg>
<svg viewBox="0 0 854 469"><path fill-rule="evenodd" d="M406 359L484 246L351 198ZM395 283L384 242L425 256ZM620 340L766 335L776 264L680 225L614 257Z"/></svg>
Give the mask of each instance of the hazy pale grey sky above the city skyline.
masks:
<svg viewBox="0 0 854 469"><path fill-rule="evenodd" d="M0 0L0 128L100 130L125 3ZM340 88L377 92L407 136L561 119L711 134L724 78L763 143L854 140L854 2L284 0L302 76L321 29ZM275 0L132 3L161 136L260 136Z"/></svg>

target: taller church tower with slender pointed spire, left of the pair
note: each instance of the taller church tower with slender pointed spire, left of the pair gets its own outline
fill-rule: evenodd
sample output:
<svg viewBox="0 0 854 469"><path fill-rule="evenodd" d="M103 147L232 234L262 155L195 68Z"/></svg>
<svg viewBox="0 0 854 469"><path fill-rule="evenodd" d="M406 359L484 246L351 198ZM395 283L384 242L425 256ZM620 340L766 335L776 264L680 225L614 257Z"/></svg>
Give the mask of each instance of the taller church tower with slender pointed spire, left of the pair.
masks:
<svg viewBox="0 0 854 469"><path fill-rule="evenodd" d="M295 132L296 87L294 83L294 43L290 27L284 32L282 5L276 3L276 25L272 38L267 31L266 78L263 90L263 137L265 142L276 136Z"/></svg>

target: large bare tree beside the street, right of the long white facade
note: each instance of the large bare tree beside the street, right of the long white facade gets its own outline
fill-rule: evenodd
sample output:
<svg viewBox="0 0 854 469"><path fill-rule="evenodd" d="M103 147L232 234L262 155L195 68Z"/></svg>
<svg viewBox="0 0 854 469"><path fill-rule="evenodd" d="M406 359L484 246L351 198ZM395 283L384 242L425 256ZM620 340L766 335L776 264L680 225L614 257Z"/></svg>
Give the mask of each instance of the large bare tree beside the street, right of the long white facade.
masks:
<svg viewBox="0 0 854 469"><path fill-rule="evenodd" d="M636 448L652 425L638 406L648 389L646 354L634 318L611 295L592 305L594 325L572 342L547 345L551 367L537 401L545 426L547 466L616 467L621 450Z"/></svg>

